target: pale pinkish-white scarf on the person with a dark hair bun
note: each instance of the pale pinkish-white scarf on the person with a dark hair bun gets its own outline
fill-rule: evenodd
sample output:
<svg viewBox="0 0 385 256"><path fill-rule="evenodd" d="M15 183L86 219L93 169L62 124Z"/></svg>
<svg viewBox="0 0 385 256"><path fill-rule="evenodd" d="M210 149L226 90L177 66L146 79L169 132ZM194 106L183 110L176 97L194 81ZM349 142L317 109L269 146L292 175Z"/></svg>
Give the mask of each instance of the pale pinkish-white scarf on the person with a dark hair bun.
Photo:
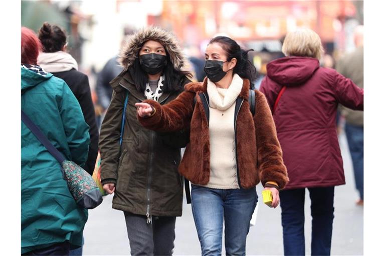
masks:
<svg viewBox="0 0 385 256"><path fill-rule="evenodd" d="M39 52L38 65L51 73L68 71L72 68L78 70L76 60L69 53L61 50L56 52Z"/></svg>

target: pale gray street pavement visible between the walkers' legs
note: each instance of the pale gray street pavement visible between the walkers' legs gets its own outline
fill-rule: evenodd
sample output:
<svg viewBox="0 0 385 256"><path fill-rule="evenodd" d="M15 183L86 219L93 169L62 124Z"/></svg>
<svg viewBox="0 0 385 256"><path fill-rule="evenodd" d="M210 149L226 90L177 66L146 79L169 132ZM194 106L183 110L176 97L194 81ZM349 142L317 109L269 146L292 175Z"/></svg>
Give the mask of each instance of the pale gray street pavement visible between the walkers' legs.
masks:
<svg viewBox="0 0 385 256"><path fill-rule="evenodd" d="M354 189L353 170L344 134L340 136L346 185L335 188L335 218L331 244L332 255L363 254L363 208L355 205L358 197ZM262 186L257 186L260 199ZM123 212L111 208L112 195L104 197L103 203L89 211L84 230L84 255L129 255ZM183 200L183 216L176 219L174 255L199 255L201 253L190 205ZM250 228L247 239L248 255L282 255L281 209L269 208L259 203L256 225ZM311 216L310 199L306 191L305 239L306 254L310 255ZM224 243L223 243L224 244ZM223 253L224 248L223 248Z"/></svg>

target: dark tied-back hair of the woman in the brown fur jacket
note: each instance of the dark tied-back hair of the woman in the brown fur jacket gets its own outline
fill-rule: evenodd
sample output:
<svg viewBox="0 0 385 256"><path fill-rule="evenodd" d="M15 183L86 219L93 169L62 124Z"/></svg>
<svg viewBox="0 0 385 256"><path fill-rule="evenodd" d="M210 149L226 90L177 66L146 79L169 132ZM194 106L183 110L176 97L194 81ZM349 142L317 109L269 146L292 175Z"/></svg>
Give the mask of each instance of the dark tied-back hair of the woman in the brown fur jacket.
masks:
<svg viewBox="0 0 385 256"><path fill-rule="evenodd" d="M242 78L249 79L250 83L257 79L257 69L247 55L253 49L244 50L235 40L227 36L216 36L210 40L209 44L215 42L221 44L222 48L226 51L227 61L232 58L237 59L233 73L237 73Z"/></svg>

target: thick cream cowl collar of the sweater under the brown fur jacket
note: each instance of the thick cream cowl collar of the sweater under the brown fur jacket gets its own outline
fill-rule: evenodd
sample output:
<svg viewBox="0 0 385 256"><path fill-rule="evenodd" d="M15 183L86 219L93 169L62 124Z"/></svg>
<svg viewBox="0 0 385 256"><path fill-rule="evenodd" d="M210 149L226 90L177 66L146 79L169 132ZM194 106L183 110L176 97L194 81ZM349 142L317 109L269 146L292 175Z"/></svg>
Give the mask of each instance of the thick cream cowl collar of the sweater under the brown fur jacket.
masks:
<svg viewBox="0 0 385 256"><path fill-rule="evenodd" d="M234 74L229 88L219 88L210 79L207 79L207 93L210 98L210 107L224 111L231 107L242 90L243 79Z"/></svg>

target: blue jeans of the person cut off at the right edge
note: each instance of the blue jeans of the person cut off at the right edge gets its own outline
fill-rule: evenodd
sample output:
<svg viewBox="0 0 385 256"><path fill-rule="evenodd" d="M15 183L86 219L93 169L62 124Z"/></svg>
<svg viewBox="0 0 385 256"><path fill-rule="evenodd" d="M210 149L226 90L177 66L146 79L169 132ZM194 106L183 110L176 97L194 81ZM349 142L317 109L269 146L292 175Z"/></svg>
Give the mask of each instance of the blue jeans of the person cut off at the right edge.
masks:
<svg viewBox="0 0 385 256"><path fill-rule="evenodd" d="M345 123L345 133L353 162L355 187L363 200L363 126Z"/></svg>

